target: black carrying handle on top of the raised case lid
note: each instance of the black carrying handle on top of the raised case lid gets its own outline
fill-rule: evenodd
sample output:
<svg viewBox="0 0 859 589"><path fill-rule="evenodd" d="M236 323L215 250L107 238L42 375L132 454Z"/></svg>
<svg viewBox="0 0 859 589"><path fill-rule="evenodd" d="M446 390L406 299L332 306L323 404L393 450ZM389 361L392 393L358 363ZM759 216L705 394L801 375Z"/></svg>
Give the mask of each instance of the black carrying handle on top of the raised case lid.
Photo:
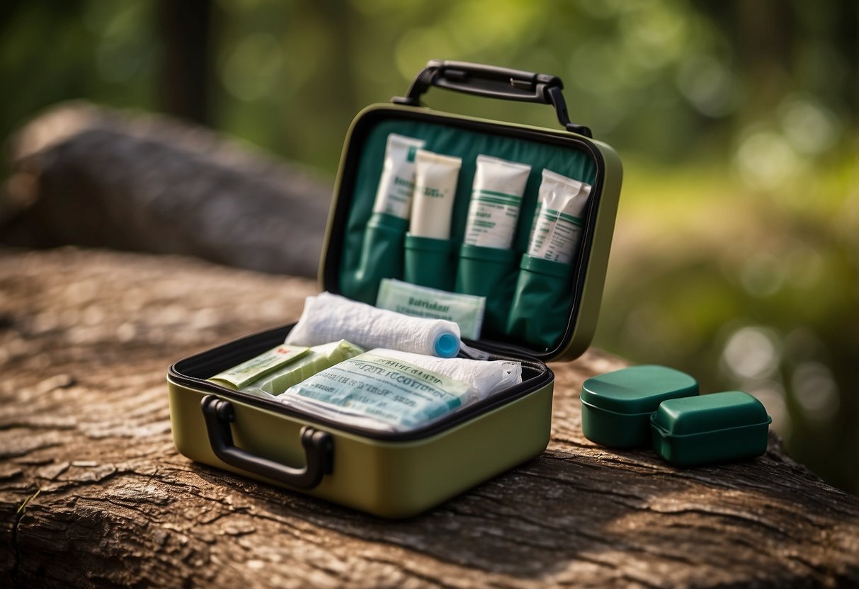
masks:
<svg viewBox="0 0 859 589"><path fill-rule="evenodd" d="M555 107L557 120L564 129L585 137L594 137L590 128L570 123L570 114L567 112L567 103L562 92L564 82L557 76L511 70L496 65L433 59L415 76L405 96L394 96L391 101L395 104L420 106L421 94L429 90L430 86L487 98L550 104Z"/></svg>

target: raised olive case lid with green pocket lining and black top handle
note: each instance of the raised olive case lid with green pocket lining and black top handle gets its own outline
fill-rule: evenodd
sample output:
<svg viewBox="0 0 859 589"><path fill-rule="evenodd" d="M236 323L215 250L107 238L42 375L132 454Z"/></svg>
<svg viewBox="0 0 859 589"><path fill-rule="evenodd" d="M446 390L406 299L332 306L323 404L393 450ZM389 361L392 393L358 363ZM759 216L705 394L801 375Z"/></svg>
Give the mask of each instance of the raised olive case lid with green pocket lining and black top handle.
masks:
<svg viewBox="0 0 859 589"><path fill-rule="evenodd" d="M431 111L419 105L421 94L430 87L548 104L554 107L563 131ZM423 149L461 159L450 226L451 262L446 265L443 261L447 247L436 248L437 252L414 247L409 250L409 263L414 265L412 260L417 260L423 274L449 279L423 286L448 290L451 288L437 282L452 283L455 277L458 288L460 277L468 272L457 265L457 260L471 260L472 282L490 284L492 272L497 274L498 288L493 285L489 293L459 290L468 295L488 295L481 348L531 355L543 361L581 355L590 344L599 315L622 172L619 158L610 147L591 140L587 127L570 122L562 88L556 76L432 61L418 74L405 97L394 98L393 105L373 105L360 112L351 124L341 155L320 261L321 287L375 304L382 278L407 279L408 273L401 269L406 263L404 232L408 222L375 211L374 201L387 138L395 134L417 139L423 142ZM504 252L498 259L486 259L485 252L491 248L473 252L463 246L478 155L532 166L513 245L510 250L498 250ZM546 271L540 264L520 264L520 258L527 258L524 254L544 168L593 187L583 213L581 244L564 276L552 276L557 275L557 269ZM490 264L497 268L490 270ZM522 291L524 294L516 282L521 267L535 276L529 283L530 290ZM557 292L562 296L554 296ZM526 303L511 304L515 297ZM499 319L506 317L505 305L525 311L514 326Z"/></svg>

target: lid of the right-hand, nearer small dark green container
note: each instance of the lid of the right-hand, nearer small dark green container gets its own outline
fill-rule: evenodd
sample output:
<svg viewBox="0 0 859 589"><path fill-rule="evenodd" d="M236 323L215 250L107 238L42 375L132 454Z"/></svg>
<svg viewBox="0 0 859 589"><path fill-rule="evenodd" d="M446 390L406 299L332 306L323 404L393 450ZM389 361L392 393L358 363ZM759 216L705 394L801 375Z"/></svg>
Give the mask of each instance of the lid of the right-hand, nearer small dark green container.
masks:
<svg viewBox="0 0 859 589"><path fill-rule="evenodd" d="M667 435L691 435L718 429L770 423L766 408L747 392L714 392L673 398L659 406L650 421Z"/></svg>

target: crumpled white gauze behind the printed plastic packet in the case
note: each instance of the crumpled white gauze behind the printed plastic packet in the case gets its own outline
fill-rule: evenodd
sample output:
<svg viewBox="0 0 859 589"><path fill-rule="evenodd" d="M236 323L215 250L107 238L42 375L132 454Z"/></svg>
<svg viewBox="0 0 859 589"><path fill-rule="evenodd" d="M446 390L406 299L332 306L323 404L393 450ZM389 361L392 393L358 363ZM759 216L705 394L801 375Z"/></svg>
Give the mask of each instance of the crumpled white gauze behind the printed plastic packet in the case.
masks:
<svg viewBox="0 0 859 589"><path fill-rule="evenodd" d="M501 391L522 382L521 362L506 360L467 360L466 358L436 358L431 355L411 354L398 349L373 349L375 355L404 361L417 367L444 374L472 387L473 401L487 398L492 392Z"/></svg>

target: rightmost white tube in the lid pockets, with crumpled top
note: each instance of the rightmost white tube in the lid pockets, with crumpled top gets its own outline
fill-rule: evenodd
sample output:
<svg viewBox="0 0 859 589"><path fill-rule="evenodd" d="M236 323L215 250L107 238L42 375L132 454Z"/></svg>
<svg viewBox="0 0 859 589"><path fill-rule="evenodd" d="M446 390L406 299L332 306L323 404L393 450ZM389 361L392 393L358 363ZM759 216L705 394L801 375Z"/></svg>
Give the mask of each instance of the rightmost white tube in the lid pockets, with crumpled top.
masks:
<svg viewBox="0 0 859 589"><path fill-rule="evenodd" d="M529 256L572 264L582 240L582 216L590 191L591 186L584 182L543 170Z"/></svg>

